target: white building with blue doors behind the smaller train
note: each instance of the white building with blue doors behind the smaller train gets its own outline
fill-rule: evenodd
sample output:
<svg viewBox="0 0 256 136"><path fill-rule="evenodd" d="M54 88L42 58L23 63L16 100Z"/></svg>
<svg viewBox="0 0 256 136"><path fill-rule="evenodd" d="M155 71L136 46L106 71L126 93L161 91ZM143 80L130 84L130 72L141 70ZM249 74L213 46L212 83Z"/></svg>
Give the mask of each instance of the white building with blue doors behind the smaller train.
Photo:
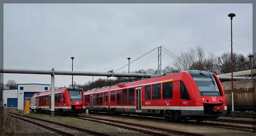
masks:
<svg viewBox="0 0 256 136"><path fill-rule="evenodd" d="M17 107L19 110L23 110L25 99L29 99L31 95L37 92L50 89L50 84L18 84L18 90L3 90L4 107Z"/></svg>

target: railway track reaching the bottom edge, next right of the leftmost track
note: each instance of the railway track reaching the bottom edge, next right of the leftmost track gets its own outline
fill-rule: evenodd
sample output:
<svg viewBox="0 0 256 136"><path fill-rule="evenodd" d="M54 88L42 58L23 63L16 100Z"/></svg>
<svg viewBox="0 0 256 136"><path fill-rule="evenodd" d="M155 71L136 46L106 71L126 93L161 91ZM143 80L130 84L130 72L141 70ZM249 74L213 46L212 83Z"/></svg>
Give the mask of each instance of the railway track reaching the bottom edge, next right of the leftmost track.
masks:
<svg viewBox="0 0 256 136"><path fill-rule="evenodd" d="M180 135L200 135L196 133L188 133L188 132L181 132L176 130L170 130L165 128L153 127L153 126L146 126L146 125L139 125L134 123L127 123L124 121L117 121L111 119L103 119L103 118L95 118L95 117L84 117L84 116L68 116L71 118L94 121L98 123L103 123L106 125L116 126L120 128L124 128L127 130L142 132L150 135L170 135L170 134L180 134Z"/></svg>

